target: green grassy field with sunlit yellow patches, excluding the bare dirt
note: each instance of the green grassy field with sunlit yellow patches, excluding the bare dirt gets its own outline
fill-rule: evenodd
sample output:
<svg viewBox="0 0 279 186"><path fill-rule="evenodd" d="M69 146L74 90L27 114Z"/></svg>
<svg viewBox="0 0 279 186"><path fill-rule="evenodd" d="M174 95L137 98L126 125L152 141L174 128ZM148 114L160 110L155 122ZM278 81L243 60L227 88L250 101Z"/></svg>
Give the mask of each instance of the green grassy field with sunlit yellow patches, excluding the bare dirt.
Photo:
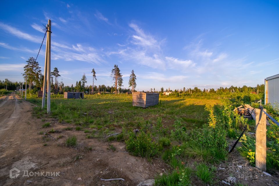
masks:
<svg viewBox="0 0 279 186"><path fill-rule="evenodd" d="M135 156L161 158L173 172L155 179L155 185L191 185L193 177L204 184L214 185L214 175L219 162L227 160L228 141L236 140L245 125L254 132L254 121L233 112L235 106L252 103L258 95L219 96L160 96L159 104L146 109L132 106L131 95L91 95L85 99L63 99L54 96L51 100L51 115L59 122L69 123L65 130L83 130L86 138L123 141L127 151ZM40 108L41 99L29 98L38 105L33 115L47 117L46 109ZM274 117L274 112L267 105ZM135 133L135 129L139 132ZM279 169L278 127L272 124L267 132L267 168ZM112 133L119 133L108 138ZM66 142L71 146L71 139ZM254 164L255 137L246 135L237 149ZM113 148L112 148L113 149ZM191 165L185 162L191 162ZM193 164L193 162L195 162ZM216 180L216 179L215 179ZM240 183L239 183L240 184Z"/></svg>

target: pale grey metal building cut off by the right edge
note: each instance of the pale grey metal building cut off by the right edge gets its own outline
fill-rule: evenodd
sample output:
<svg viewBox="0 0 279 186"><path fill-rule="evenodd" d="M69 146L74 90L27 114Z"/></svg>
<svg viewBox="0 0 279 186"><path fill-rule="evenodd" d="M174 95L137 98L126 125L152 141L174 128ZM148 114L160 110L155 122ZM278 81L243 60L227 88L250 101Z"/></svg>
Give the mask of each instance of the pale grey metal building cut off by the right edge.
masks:
<svg viewBox="0 0 279 186"><path fill-rule="evenodd" d="M279 74L270 76L264 81L264 104L270 103L278 107L279 103Z"/></svg>

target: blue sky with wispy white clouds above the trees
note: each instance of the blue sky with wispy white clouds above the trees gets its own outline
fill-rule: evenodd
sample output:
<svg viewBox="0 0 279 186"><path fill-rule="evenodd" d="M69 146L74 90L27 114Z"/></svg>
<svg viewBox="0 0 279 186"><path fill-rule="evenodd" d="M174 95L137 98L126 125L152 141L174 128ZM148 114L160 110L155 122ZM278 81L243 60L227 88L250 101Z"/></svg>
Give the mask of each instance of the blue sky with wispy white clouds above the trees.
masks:
<svg viewBox="0 0 279 186"><path fill-rule="evenodd" d="M279 73L279 1L1 1L0 79L23 81L52 22L51 70L65 85L128 88L256 86ZM45 43L45 42L44 42ZM37 61L44 70L45 44ZM9 75L9 76L5 76Z"/></svg>

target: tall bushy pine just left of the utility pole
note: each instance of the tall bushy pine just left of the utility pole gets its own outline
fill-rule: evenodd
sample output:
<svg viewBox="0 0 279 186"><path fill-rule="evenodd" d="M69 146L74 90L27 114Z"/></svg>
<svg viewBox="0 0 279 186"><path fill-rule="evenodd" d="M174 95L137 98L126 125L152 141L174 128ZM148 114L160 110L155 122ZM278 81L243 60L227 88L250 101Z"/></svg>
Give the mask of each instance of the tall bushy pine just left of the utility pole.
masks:
<svg viewBox="0 0 279 186"><path fill-rule="evenodd" d="M27 81L29 81L29 90L32 88L33 82L36 85L39 85L41 67L39 67L39 63L35 61L35 58L30 57L27 61L27 65L24 66L24 78L27 76Z"/></svg>

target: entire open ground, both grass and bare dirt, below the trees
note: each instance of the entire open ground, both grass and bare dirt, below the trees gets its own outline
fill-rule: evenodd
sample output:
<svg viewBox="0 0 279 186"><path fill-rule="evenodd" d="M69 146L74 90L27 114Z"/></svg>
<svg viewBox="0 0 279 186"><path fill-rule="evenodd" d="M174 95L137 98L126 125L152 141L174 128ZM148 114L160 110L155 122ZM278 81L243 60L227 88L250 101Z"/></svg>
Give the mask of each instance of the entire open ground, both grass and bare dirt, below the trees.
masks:
<svg viewBox="0 0 279 186"><path fill-rule="evenodd" d="M253 121L242 121L228 109L243 102L245 96L231 101L218 98L160 96L159 105L143 109L132 106L131 95L85 99L58 95L51 100L50 116L40 109L41 99L28 99L35 106L19 97L4 98L15 104L17 112L26 111L18 127L2 131L1 185L24 185L27 180L37 185L137 185L154 178L155 185L224 185L222 181L228 183L230 176L236 178L234 185L275 185L279 181L276 154L270 153L275 159L269 160L272 177L242 157L253 149L252 135L246 134L245 144L238 144L239 151L227 153L244 124L248 122L250 132L254 130ZM276 143L278 137L272 135L270 142ZM17 150L8 150L8 146ZM276 148L276 144L269 146ZM7 179L4 173L14 165L62 174L57 179Z"/></svg>

